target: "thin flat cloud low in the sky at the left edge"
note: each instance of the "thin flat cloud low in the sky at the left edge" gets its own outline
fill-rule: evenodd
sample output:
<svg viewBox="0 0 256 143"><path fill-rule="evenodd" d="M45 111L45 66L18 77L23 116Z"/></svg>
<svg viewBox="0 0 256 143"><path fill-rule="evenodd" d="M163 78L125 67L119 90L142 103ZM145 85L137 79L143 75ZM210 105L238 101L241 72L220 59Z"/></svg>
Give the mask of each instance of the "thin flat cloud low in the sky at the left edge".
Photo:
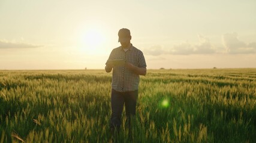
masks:
<svg viewBox="0 0 256 143"><path fill-rule="evenodd" d="M41 47L41 45L34 45L31 43L22 43L22 42L9 42L6 40L0 39L0 49L5 48L37 48Z"/></svg>

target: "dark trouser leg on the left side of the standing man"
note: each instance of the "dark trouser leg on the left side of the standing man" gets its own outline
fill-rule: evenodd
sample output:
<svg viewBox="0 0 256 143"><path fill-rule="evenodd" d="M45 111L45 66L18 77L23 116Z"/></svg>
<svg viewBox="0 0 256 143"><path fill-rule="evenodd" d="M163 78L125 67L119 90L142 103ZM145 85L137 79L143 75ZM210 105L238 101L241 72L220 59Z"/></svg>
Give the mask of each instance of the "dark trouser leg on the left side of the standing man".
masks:
<svg viewBox="0 0 256 143"><path fill-rule="evenodd" d="M111 94L111 108L112 108L112 115L110 119L110 128L113 130L120 129L121 126L121 117L122 111L124 107L124 96L122 92L117 92L112 89Z"/></svg>

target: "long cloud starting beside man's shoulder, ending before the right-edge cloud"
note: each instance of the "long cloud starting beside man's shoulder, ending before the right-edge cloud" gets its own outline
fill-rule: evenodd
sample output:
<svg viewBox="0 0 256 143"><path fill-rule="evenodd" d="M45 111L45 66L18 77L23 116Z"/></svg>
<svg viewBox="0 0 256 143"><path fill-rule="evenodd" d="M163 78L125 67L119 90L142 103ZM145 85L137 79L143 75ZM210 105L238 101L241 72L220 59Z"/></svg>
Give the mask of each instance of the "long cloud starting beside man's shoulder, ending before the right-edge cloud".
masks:
<svg viewBox="0 0 256 143"><path fill-rule="evenodd" d="M215 47L210 43L209 39L198 35L199 42L191 44L189 42L179 43L170 49L164 49L162 46L152 46L150 49L144 49L144 53L148 55L189 55L189 54L213 54L216 52Z"/></svg>

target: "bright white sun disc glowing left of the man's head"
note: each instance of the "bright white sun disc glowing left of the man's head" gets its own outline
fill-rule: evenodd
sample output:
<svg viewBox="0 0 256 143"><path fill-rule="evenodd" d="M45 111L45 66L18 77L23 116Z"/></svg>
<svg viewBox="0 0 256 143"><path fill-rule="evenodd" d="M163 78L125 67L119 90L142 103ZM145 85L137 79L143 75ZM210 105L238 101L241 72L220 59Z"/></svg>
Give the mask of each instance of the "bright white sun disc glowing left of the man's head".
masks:
<svg viewBox="0 0 256 143"><path fill-rule="evenodd" d="M82 36L82 51L87 54L97 54L101 52L104 46L104 33L97 28L85 30Z"/></svg>

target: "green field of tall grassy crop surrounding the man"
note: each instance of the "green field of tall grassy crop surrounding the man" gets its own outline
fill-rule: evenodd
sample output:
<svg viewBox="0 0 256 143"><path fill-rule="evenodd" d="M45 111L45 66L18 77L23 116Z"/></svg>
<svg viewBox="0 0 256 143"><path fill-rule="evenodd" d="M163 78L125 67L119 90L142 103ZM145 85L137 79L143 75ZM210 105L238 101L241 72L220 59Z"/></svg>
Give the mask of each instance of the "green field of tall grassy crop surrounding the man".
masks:
<svg viewBox="0 0 256 143"><path fill-rule="evenodd" d="M1 142L256 142L256 69L148 70L131 138L104 70L0 71Z"/></svg>

